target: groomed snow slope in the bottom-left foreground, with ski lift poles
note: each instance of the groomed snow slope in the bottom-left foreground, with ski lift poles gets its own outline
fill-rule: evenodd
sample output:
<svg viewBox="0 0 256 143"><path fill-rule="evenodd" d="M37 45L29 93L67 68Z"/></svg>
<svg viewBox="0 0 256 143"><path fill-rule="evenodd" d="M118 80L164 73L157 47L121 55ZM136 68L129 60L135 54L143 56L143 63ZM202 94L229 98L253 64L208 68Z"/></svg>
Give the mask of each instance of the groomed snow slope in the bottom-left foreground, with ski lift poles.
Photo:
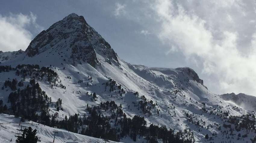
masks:
<svg viewBox="0 0 256 143"><path fill-rule="evenodd" d="M53 141L54 132L57 131L55 135L55 143L62 142L98 142L105 143L105 140L99 138L93 138L85 135L76 134L73 132L68 132L65 129L56 129L51 128L49 126L44 126L42 124L35 123L33 121L25 121L21 122L21 126L19 126L20 118L14 118L12 115L8 114L0 114L0 142L8 143L14 142L17 137L15 135L19 135L20 131L17 129L27 128L31 126L33 129L37 130L37 135L40 137L41 142L50 143ZM12 139L12 141L11 141ZM114 141L109 141L114 142Z"/></svg>

